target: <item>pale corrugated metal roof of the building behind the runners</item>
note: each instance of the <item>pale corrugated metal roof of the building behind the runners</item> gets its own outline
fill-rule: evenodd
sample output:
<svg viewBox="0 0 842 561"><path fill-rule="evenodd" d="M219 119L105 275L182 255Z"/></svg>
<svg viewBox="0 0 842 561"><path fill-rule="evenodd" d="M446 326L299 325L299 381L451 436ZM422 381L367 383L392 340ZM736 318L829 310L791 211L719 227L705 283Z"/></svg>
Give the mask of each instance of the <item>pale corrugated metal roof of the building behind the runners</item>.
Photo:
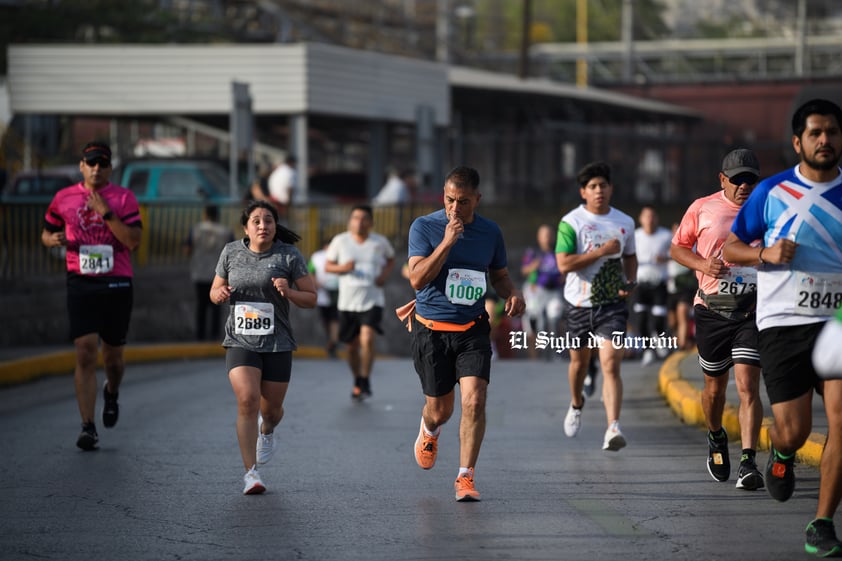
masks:
<svg viewBox="0 0 842 561"><path fill-rule="evenodd" d="M452 88L577 99L700 118L668 103L546 79L321 43L293 45L12 45L11 111L42 114L227 114L247 83L255 114L328 114L413 123L419 106L450 122Z"/></svg>

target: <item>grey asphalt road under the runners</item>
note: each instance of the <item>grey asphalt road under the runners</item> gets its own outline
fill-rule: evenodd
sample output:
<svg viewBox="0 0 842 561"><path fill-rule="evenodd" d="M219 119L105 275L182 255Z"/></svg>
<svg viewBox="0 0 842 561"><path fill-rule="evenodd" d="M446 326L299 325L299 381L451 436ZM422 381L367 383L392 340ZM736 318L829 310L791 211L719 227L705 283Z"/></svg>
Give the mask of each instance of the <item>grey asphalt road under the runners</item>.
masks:
<svg viewBox="0 0 842 561"><path fill-rule="evenodd" d="M497 361L476 471L457 503L458 425L436 467L415 465L423 399L411 364L375 366L349 399L341 361L297 360L268 491L243 496L235 403L219 358L131 364L119 424L75 447L72 378L0 390L0 558L10 560L791 560L818 489L799 465L787 503L705 469L704 433L658 394L657 365L624 364L628 447L601 449L591 399L562 430L567 363ZM100 378L102 374L100 373ZM732 462L739 451L732 445ZM761 453L759 463L765 463Z"/></svg>

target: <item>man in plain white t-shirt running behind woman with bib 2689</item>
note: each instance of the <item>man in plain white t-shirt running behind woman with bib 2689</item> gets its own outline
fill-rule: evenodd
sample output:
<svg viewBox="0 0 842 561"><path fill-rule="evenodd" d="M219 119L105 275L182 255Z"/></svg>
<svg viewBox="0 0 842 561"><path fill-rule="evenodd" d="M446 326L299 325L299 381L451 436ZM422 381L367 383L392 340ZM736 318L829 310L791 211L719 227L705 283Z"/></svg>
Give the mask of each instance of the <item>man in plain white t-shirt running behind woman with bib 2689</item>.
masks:
<svg viewBox="0 0 842 561"><path fill-rule="evenodd" d="M395 250L373 232L370 206L351 209L348 231L336 235L327 248L325 271L339 275L339 340L348 345L348 365L354 376L351 398L371 396L374 342L383 334L383 285L395 264Z"/></svg>

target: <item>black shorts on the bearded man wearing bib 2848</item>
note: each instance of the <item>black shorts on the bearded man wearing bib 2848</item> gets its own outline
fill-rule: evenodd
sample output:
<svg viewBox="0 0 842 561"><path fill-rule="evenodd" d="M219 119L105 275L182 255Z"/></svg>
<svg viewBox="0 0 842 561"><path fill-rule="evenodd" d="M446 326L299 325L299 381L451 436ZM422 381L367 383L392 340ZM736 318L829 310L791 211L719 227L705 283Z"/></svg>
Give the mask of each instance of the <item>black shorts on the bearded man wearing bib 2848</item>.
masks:
<svg viewBox="0 0 842 561"><path fill-rule="evenodd" d="M800 397L820 389L813 369L813 347L824 322L770 327L759 334L760 362L769 403Z"/></svg>

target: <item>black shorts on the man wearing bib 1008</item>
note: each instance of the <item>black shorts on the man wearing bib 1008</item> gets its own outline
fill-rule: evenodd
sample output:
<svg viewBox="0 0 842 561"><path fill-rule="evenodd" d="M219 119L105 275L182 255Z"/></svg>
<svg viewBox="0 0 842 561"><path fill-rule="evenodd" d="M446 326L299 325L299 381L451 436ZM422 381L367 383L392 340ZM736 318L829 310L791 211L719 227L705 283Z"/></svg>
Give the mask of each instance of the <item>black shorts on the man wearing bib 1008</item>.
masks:
<svg viewBox="0 0 842 561"><path fill-rule="evenodd" d="M463 376L491 376L491 326L477 318L467 331L432 331L412 318L412 361L424 395L447 395Z"/></svg>

